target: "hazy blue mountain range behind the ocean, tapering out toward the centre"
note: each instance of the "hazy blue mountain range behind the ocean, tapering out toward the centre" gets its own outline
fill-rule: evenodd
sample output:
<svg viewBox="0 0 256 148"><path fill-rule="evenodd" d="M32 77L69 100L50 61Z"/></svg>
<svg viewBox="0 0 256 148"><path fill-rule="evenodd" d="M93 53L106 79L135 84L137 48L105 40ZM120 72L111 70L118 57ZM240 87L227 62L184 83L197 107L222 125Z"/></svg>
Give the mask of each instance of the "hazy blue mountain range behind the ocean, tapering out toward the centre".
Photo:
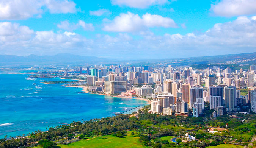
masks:
<svg viewBox="0 0 256 148"><path fill-rule="evenodd" d="M1 65L45 65L45 64L75 64L75 63L100 63L113 61L112 59L97 58L95 56L79 56L61 53L53 56L13 56L0 55Z"/></svg>

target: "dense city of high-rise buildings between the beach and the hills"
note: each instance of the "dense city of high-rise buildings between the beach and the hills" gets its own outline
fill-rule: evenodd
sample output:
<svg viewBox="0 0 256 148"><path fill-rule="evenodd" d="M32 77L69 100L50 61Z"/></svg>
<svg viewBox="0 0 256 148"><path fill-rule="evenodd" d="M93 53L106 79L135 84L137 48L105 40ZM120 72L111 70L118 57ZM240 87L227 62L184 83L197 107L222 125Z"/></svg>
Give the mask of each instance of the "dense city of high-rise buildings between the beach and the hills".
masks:
<svg viewBox="0 0 256 148"><path fill-rule="evenodd" d="M151 100L151 112L198 117L205 104L213 116L249 107L256 112L256 66L250 70L192 67L110 66L86 68L87 85L105 94L140 96ZM80 68L82 74L82 68ZM239 89L247 88L247 95ZM249 105L248 105L249 104ZM190 112L189 112L190 111Z"/></svg>

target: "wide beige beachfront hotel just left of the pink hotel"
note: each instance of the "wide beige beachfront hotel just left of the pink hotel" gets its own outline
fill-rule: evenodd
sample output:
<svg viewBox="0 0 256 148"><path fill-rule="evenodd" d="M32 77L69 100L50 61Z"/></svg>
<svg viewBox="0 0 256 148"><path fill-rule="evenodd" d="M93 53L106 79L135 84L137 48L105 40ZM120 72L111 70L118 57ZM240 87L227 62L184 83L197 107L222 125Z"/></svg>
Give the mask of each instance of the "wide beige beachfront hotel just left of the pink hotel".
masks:
<svg viewBox="0 0 256 148"><path fill-rule="evenodd" d="M127 81L105 81L105 94L119 94L127 91Z"/></svg>

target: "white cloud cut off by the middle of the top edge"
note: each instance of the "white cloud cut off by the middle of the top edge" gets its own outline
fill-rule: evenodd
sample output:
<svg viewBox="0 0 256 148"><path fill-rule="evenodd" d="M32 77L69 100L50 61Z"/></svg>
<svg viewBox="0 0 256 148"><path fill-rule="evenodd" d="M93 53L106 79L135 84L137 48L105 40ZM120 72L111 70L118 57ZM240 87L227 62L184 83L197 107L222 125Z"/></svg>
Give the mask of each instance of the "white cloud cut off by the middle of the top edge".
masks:
<svg viewBox="0 0 256 148"><path fill-rule="evenodd" d="M163 5L168 0L111 0L113 5L129 6L133 8L147 8L152 5Z"/></svg>

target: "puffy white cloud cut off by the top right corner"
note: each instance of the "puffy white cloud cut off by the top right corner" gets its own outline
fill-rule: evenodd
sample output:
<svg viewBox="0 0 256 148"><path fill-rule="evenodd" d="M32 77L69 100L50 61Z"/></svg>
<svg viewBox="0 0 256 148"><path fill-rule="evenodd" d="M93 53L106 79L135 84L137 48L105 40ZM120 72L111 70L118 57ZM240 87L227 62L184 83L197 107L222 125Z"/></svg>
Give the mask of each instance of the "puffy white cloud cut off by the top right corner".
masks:
<svg viewBox="0 0 256 148"><path fill-rule="evenodd" d="M221 0L212 4L210 10L225 17L256 14L256 0Z"/></svg>

